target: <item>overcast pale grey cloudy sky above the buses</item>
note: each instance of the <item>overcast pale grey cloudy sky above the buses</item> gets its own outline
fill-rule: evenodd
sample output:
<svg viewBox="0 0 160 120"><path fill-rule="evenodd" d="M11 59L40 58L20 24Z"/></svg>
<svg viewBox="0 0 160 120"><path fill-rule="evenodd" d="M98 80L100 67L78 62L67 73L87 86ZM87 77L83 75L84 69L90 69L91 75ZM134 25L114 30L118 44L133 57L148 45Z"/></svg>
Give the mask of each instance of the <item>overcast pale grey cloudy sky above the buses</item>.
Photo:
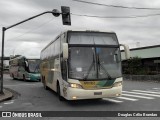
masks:
<svg viewBox="0 0 160 120"><path fill-rule="evenodd" d="M101 4L128 7L160 8L160 0L86 0ZM69 6L71 13L96 16L135 16L160 14L160 10L113 8L72 0L0 0L0 27L7 27L28 17ZM71 26L62 25L62 18L46 14L5 33L5 56L25 55L39 58L40 51L59 33L67 29L115 31L119 42L130 48L160 44L160 15L141 18L89 18L71 16ZM2 32L1 32L2 34ZM0 34L0 38L2 38ZM0 47L1 48L1 47Z"/></svg>

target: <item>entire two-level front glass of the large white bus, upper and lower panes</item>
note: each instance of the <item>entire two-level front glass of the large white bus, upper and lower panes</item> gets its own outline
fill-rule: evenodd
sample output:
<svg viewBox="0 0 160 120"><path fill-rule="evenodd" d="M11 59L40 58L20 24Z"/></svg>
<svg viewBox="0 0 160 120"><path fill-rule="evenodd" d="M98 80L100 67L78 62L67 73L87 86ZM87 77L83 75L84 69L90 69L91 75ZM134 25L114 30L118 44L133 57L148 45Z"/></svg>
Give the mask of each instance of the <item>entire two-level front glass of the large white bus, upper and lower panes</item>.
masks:
<svg viewBox="0 0 160 120"><path fill-rule="evenodd" d="M111 80L121 77L120 49L115 38L104 33L71 34L69 36L69 78ZM87 46L85 43L88 43Z"/></svg>

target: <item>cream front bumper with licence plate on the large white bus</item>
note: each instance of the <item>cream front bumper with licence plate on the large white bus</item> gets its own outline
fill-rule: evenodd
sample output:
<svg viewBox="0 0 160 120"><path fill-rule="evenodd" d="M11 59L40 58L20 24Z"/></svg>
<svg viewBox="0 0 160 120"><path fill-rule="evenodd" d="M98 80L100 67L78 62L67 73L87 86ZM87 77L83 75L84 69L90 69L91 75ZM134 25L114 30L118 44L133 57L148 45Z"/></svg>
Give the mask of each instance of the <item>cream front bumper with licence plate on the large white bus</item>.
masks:
<svg viewBox="0 0 160 120"><path fill-rule="evenodd" d="M80 100L80 99L96 99L107 97L119 97L122 94L122 86L112 87L109 89L76 89L68 87L65 98L67 100Z"/></svg>

